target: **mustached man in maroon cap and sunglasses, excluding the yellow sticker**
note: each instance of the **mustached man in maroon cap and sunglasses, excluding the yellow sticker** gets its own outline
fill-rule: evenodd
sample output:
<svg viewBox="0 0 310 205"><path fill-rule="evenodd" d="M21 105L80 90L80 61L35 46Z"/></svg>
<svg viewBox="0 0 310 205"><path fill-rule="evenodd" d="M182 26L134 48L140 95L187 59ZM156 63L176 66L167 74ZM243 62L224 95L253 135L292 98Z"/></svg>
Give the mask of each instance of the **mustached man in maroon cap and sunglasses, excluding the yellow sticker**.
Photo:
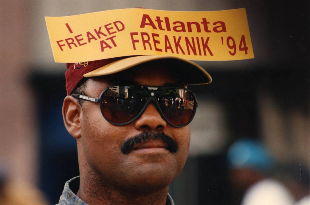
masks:
<svg viewBox="0 0 310 205"><path fill-rule="evenodd" d="M67 68L63 118L77 141L80 177L66 182L59 204L174 204L168 186L188 156L197 107L186 88L210 83L210 75L193 62L164 56ZM120 98L135 100L133 109L118 104ZM161 103L170 98L188 106L173 113Z"/></svg>

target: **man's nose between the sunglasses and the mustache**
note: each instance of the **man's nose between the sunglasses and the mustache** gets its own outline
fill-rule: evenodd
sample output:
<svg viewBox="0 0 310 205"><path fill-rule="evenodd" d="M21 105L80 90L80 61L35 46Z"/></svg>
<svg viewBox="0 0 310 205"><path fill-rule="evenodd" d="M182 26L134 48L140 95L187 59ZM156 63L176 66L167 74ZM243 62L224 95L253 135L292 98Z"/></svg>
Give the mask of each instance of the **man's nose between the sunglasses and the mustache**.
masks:
<svg viewBox="0 0 310 205"><path fill-rule="evenodd" d="M137 130L164 130L167 122L162 118L153 103L149 103L144 113L135 121Z"/></svg>

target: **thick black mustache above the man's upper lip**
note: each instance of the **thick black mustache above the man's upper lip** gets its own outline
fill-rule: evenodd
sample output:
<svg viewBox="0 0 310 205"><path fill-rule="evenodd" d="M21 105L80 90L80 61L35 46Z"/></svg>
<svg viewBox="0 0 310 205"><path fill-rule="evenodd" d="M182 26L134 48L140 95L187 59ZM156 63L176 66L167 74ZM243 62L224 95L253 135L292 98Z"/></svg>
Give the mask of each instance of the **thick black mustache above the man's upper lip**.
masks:
<svg viewBox="0 0 310 205"><path fill-rule="evenodd" d="M147 140L162 140L162 142L168 145L167 149L171 153L175 153L178 151L178 145L176 144L175 140L172 139L170 136L166 135L163 132L149 132L149 131L143 131L140 134L127 139L123 143L121 151L123 154L128 154L133 150L133 147L136 144L144 143Z"/></svg>

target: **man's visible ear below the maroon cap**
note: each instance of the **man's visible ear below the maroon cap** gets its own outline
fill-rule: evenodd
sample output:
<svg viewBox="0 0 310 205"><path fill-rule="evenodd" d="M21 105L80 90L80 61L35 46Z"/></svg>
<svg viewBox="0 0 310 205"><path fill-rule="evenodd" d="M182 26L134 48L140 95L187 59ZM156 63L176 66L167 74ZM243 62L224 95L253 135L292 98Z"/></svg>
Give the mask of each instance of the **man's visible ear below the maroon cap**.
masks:
<svg viewBox="0 0 310 205"><path fill-rule="evenodd" d="M66 96L62 106L64 126L74 138L81 137L81 114L82 107L73 96Z"/></svg>

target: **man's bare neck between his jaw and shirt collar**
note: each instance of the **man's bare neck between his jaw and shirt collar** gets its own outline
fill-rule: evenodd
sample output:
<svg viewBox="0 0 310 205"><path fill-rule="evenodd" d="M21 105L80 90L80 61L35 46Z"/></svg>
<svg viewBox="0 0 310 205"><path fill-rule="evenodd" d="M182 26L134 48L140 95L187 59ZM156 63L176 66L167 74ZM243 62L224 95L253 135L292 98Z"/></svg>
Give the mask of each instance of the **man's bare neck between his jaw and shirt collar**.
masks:
<svg viewBox="0 0 310 205"><path fill-rule="evenodd" d="M126 204L126 205L165 205L168 187L162 190L141 193L135 190L120 190L109 185L104 179L87 171L80 176L80 188L77 196L89 205Z"/></svg>

